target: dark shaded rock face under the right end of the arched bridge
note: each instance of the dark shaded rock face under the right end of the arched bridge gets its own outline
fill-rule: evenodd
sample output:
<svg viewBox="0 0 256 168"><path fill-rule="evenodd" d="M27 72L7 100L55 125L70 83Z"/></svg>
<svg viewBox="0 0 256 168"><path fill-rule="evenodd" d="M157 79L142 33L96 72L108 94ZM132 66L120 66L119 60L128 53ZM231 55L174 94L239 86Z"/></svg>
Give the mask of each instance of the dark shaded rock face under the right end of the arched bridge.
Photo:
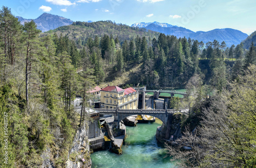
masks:
<svg viewBox="0 0 256 168"><path fill-rule="evenodd" d="M181 137L181 113L169 114L168 122L157 127L156 138L161 143L166 141L175 141Z"/></svg>

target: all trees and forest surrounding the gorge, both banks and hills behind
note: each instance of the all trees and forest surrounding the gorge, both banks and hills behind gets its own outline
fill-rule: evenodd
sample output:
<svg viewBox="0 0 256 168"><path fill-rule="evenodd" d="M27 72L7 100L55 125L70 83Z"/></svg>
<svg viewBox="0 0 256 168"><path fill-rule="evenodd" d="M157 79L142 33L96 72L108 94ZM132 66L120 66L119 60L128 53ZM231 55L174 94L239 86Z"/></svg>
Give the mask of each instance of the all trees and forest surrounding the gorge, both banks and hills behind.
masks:
<svg viewBox="0 0 256 168"><path fill-rule="evenodd" d="M193 150L167 146L183 166L255 166L253 43L248 50L224 41L204 44L112 21L74 22L40 33L33 20L20 25L7 7L0 21L0 115L8 113L9 136L8 164L1 155L1 167L39 167L46 150L55 167L65 167L75 132L86 120L73 110L75 96L89 107L87 91L95 83L106 85L134 67L129 80L118 84L187 89L182 103L174 100L190 108L182 121L190 127L178 142ZM3 131L0 137L3 153Z"/></svg>

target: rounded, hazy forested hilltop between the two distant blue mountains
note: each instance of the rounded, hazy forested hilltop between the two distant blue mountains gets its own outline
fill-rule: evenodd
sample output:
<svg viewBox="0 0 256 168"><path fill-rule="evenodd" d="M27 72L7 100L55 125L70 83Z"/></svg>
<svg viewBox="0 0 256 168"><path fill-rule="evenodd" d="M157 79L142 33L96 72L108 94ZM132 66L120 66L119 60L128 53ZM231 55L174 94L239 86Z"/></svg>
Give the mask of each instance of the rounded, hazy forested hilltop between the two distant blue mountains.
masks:
<svg viewBox="0 0 256 168"><path fill-rule="evenodd" d="M88 38L95 38L95 36L103 37L105 34L108 36L118 37L121 43L124 40L131 40L136 36L145 36L147 39L158 37L160 33L153 32L146 29L132 28L122 23L113 23L112 21L97 21L97 22L73 22L70 26L59 27L46 33L60 33L63 36L68 36L70 39L77 41L77 44L83 46Z"/></svg>

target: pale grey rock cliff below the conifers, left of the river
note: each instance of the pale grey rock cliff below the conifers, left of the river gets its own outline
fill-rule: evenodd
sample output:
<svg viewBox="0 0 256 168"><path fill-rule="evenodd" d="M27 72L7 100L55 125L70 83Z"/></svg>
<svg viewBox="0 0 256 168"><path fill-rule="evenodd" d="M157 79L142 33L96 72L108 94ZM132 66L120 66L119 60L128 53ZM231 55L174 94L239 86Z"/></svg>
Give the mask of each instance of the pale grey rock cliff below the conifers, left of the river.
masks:
<svg viewBox="0 0 256 168"><path fill-rule="evenodd" d="M69 158L66 162L67 168L85 168L91 167L90 146L88 140L89 127L87 123L77 130L73 146L69 152Z"/></svg>

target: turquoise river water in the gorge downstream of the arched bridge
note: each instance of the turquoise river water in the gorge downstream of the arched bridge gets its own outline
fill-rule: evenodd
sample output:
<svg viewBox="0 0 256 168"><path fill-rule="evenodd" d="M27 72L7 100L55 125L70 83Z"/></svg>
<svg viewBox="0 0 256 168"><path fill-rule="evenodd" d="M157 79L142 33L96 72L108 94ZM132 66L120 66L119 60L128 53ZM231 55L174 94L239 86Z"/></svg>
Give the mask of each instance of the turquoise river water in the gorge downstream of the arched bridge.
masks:
<svg viewBox="0 0 256 168"><path fill-rule="evenodd" d="M91 155L92 168L169 168L175 167L170 162L163 145L157 143L156 129L161 126L155 123L137 124L137 127L126 127L127 138L122 146L122 155L109 151L97 151Z"/></svg>

